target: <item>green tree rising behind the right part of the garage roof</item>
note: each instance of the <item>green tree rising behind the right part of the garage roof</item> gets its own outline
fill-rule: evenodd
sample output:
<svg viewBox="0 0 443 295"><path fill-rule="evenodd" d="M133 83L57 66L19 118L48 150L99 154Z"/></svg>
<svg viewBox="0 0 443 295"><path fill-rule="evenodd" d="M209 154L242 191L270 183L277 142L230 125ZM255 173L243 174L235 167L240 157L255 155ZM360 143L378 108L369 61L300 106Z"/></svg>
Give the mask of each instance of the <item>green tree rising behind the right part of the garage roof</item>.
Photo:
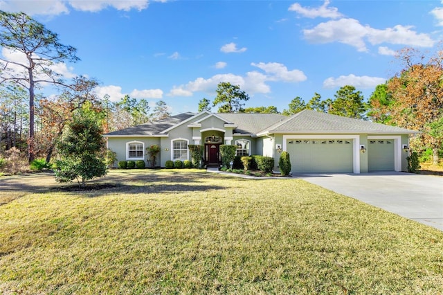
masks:
<svg viewBox="0 0 443 295"><path fill-rule="evenodd" d="M335 99L329 105L329 114L345 116L355 119L366 118L368 105L361 91L357 91L354 86L346 85L337 90Z"/></svg>

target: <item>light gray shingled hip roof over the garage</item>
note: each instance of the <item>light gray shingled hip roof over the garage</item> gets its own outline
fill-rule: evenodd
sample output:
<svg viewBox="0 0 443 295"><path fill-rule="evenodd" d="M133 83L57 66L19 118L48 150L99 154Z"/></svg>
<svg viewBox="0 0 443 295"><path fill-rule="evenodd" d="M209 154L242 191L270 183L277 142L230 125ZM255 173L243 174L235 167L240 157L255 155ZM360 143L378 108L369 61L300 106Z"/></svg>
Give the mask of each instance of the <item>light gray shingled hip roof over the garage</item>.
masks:
<svg viewBox="0 0 443 295"><path fill-rule="evenodd" d="M266 133L414 134L417 131L305 109L263 130Z"/></svg>

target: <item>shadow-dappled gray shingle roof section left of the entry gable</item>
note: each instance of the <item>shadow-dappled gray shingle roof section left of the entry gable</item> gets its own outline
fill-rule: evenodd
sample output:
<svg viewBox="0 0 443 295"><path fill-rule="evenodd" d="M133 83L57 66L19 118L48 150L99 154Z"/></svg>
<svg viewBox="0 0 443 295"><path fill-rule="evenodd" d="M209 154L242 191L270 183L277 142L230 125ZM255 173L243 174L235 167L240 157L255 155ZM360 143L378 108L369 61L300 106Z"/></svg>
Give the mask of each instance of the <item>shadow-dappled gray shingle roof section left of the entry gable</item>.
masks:
<svg viewBox="0 0 443 295"><path fill-rule="evenodd" d="M163 120L158 120L114 132L109 132L105 134L105 136L151 136L154 134L159 134L163 130L168 129L174 125L177 125L192 116L195 116L195 114L193 113L178 114L176 116L170 116Z"/></svg>

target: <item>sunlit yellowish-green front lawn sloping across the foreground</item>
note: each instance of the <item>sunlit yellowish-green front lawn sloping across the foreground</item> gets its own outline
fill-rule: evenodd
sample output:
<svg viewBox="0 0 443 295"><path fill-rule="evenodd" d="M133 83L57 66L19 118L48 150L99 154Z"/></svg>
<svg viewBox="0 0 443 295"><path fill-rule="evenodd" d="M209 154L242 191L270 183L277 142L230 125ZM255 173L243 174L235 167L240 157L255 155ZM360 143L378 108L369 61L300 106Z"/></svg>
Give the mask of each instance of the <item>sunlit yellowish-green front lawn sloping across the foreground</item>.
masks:
<svg viewBox="0 0 443 295"><path fill-rule="evenodd" d="M1 177L0 294L442 294L443 233L299 179ZM66 186L66 185L65 185Z"/></svg>

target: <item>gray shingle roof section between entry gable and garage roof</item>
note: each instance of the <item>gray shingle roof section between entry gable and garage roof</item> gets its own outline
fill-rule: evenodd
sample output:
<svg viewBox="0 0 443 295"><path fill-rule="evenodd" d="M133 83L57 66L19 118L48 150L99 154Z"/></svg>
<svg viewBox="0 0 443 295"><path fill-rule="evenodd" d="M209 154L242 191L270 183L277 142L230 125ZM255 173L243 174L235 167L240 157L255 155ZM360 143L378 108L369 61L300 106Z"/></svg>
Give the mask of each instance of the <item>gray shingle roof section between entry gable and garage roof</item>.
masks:
<svg viewBox="0 0 443 295"><path fill-rule="evenodd" d="M220 118L224 118L238 127L234 133L257 134L267 127L282 122L287 116L280 114L217 114Z"/></svg>

